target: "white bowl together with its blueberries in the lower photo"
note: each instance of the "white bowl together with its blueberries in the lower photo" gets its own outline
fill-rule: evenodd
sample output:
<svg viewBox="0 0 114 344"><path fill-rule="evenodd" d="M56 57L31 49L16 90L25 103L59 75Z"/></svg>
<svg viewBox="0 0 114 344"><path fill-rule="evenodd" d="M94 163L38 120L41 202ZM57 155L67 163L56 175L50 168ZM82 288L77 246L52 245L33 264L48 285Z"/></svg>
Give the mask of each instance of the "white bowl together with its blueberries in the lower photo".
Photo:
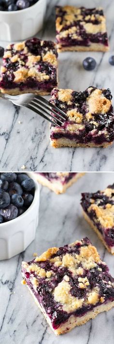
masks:
<svg viewBox="0 0 114 344"><path fill-rule="evenodd" d="M0 173L0 260L23 252L34 240L39 203L33 173Z"/></svg>

